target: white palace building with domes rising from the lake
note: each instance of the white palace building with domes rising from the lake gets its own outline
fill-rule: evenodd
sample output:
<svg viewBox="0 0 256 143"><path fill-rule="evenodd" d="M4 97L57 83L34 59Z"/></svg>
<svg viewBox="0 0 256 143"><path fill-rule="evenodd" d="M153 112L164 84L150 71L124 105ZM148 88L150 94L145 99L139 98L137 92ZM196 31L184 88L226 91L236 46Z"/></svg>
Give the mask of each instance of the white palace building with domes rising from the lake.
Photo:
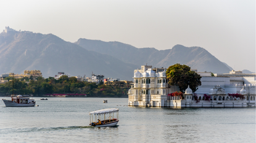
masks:
<svg viewBox="0 0 256 143"><path fill-rule="evenodd" d="M214 74L197 72L202 76L202 85L196 91L199 98L193 98L188 87L183 98L168 96L169 93L180 91L177 86L170 86L165 68L141 66L134 70L134 86L128 91L129 106L144 107L255 107L255 74L242 74L231 71L229 74ZM245 99L233 98L229 94L239 93ZM210 96L205 101L204 94Z"/></svg>

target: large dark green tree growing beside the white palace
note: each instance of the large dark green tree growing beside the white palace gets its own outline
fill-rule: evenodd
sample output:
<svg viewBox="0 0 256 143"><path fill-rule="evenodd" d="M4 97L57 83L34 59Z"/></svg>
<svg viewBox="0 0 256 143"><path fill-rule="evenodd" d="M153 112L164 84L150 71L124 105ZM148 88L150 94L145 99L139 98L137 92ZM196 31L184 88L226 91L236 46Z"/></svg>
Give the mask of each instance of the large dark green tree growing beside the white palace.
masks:
<svg viewBox="0 0 256 143"><path fill-rule="evenodd" d="M185 64L174 64L167 69L166 75L170 85L177 85L184 93L186 88L191 88L195 92L201 84L202 78L199 74L190 70Z"/></svg>

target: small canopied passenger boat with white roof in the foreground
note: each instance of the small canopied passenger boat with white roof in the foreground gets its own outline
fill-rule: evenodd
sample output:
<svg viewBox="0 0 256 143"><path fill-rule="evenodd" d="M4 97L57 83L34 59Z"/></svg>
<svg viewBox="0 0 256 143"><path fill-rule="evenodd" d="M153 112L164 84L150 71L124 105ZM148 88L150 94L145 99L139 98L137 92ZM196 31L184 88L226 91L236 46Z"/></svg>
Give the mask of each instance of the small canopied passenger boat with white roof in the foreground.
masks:
<svg viewBox="0 0 256 143"><path fill-rule="evenodd" d="M118 110L117 108L110 108L110 109L102 109L96 110L93 112L89 112L90 115L90 124L91 126L98 126L98 127L112 127L116 126L119 122L118 120ZM116 113L116 117L115 117ZM102 115L102 117L101 117ZM104 115L104 120L101 120ZM95 122L93 120L95 116Z"/></svg>

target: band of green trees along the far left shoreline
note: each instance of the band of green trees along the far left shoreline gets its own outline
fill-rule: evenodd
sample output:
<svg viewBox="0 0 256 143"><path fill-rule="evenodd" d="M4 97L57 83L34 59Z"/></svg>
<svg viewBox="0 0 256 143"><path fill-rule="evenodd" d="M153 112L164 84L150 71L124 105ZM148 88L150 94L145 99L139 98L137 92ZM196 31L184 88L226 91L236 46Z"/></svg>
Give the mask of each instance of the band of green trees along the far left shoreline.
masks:
<svg viewBox="0 0 256 143"><path fill-rule="evenodd" d="M12 77L7 78L12 80ZM96 84L94 82L82 82L76 77L62 75L59 80L54 77L44 79L38 77L36 80L14 79L14 94L33 94L41 96L49 93L78 93L88 96L122 96L127 93L129 87L118 87L104 85L103 82ZM0 94L12 94L12 81L0 84Z"/></svg>

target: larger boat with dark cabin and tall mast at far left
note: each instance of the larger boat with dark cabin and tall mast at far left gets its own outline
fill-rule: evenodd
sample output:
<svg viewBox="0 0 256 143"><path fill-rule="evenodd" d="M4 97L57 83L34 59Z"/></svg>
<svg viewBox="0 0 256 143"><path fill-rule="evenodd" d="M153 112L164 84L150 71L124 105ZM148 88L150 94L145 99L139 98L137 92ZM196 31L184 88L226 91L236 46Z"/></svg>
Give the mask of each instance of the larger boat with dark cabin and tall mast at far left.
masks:
<svg viewBox="0 0 256 143"><path fill-rule="evenodd" d="M22 95L11 96L12 100L2 99L6 107L33 107L36 104L35 99L23 97Z"/></svg>

